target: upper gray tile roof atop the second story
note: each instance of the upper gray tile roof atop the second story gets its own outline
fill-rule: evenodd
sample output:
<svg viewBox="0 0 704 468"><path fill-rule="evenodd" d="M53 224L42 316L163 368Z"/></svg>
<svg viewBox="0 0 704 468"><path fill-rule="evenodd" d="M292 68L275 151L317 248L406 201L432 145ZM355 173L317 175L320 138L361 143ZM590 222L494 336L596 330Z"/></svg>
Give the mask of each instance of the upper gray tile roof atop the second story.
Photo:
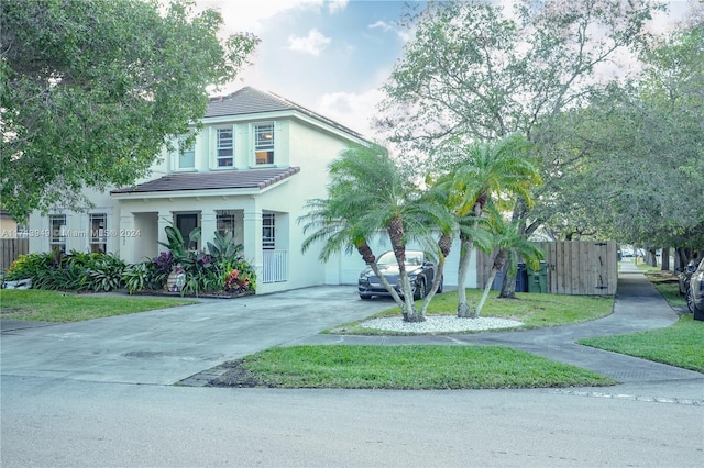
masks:
<svg viewBox="0 0 704 468"><path fill-rule="evenodd" d="M319 122L349 133L352 136L364 140L364 136L358 132L306 109L302 105L296 104L295 102L282 98L273 92L261 91L249 86L233 92L232 94L211 98L210 103L208 104L208 111L206 112L206 119L278 111L297 111Z"/></svg>

